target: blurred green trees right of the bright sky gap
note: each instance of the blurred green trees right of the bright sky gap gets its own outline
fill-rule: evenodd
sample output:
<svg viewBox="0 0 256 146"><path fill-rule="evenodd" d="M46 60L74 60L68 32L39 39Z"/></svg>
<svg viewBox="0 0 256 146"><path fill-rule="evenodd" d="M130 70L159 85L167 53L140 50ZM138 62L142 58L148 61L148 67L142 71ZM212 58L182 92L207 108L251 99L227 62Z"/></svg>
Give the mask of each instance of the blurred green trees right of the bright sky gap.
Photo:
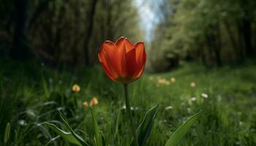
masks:
<svg viewBox="0 0 256 146"><path fill-rule="evenodd" d="M167 64L163 69L173 62L168 61L169 56L194 58L207 66L221 66L255 55L252 42L256 38L256 1L165 0L165 4L173 13L163 10L167 16L158 24L159 34L154 37L161 36L158 49L162 51L158 52L165 53L158 58Z"/></svg>

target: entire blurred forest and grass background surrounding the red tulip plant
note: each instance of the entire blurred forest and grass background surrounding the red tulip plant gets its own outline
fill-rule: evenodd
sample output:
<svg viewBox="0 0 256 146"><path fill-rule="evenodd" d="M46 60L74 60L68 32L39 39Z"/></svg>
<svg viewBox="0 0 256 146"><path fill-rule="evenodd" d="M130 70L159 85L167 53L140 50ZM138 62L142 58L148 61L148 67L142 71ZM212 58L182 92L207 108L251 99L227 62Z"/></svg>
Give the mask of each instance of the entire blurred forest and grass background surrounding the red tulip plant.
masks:
<svg viewBox="0 0 256 146"><path fill-rule="evenodd" d="M198 110L205 114L181 145L256 145L255 7L255 0L0 0L0 145L7 123L7 145L69 145L43 122L63 127L62 110L90 134L83 101L93 97L110 145L127 145L122 87L97 58L102 42L122 36L144 41L148 54L130 88L136 123L160 104L147 145L164 145Z"/></svg>

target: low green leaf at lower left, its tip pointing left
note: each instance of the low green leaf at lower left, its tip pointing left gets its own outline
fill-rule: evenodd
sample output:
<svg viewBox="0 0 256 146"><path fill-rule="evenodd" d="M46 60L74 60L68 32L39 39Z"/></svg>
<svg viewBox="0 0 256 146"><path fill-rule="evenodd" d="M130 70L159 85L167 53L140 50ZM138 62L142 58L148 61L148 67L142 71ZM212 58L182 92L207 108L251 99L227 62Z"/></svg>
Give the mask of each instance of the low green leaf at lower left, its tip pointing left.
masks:
<svg viewBox="0 0 256 146"><path fill-rule="evenodd" d="M57 134L59 134L59 136L66 139L67 142L82 146L80 144L80 142L77 139L75 139L75 137L70 132L63 131L52 123L45 122L45 124L46 124L46 126L48 126L48 128L51 128L53 131L55 131Z"/></svg>

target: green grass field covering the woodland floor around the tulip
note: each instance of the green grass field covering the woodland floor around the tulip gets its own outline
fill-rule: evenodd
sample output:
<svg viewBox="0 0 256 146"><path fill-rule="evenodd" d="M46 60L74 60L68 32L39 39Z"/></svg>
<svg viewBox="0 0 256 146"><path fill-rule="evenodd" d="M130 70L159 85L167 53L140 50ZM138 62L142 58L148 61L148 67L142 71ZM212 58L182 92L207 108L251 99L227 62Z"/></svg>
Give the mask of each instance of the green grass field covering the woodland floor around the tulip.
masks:
<svg viewBox="0 0 256 146"><path fill-rule="evenodd" d="M111 145L129 144L132 136L124 111L123 86L110 81L100 66L63 71L9 60L0 64L0 145L4 145L8 122L11 135L7 145L69 145L44 124L48 121L64 128L58 110L78 134L85 135L79 129L91 134L91 114L83 101L94 96L99 100L94 110L105 139ZM171 82L171 77L176 82ZM80 92L72 92L74 84L80 85ZM148 109L160 105L146 145L165 145L173 131L199 110L203 115L181 145L256 145L253 61L218 69L184 63L173 72L145 73L129 85L129 95L137 126Z"/></svg>

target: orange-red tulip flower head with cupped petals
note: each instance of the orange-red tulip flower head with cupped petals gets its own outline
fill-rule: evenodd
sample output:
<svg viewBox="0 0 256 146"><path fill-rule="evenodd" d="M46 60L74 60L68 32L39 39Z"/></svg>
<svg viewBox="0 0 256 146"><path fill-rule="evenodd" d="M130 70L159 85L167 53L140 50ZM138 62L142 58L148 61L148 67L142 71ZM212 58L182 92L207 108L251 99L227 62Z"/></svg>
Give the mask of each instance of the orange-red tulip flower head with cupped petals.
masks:
<svg viewBox="0 0 256 146"><path fill-rule="evenodd" d="M111 80L129 84L143 73L146 51L143 42L134 45L129 39L121 37L116 42L103 42L98 58Z"/></svg>

